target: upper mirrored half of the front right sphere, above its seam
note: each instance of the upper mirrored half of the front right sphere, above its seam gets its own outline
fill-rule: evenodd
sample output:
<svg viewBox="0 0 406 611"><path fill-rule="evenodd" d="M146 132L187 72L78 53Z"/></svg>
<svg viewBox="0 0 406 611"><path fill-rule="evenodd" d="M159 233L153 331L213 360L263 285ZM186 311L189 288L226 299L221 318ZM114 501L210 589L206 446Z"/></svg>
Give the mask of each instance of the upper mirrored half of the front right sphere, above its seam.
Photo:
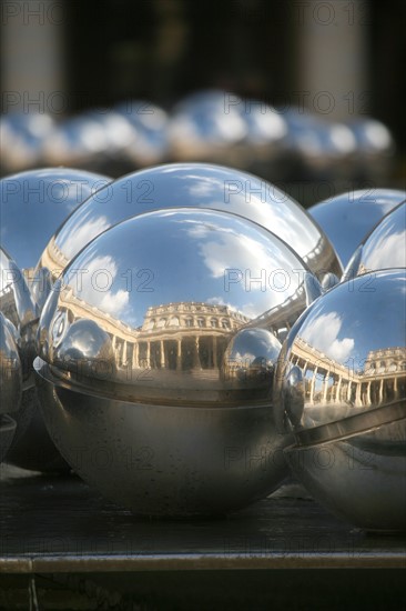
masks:
<svg viewBox="0 0 406 611"><path fill-rule="evenodd" d="M315 441L354 432L357 422L369 428L377 408L405 411L405 280L406 270L388 270L343 282L297 321L275 377L283 428ZM351 420L363 412L371 420Z"/></svg>

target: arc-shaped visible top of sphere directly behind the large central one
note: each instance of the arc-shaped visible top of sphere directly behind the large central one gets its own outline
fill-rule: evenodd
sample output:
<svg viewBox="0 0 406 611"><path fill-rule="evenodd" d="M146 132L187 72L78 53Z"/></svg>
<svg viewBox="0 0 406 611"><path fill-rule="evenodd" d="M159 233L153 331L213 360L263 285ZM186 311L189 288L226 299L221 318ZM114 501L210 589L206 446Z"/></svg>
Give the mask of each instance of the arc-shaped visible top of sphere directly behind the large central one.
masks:
<svg viewBox="0 0 406 611"><path fill-rule="evenodd" d="M323 231L290 196L245 172L205 163L169 163L134 172L94 193L60 228L40 267L61 269L102 231L144 212L204 208L255 221L288 243L321 279L342 274Z"/></svg>

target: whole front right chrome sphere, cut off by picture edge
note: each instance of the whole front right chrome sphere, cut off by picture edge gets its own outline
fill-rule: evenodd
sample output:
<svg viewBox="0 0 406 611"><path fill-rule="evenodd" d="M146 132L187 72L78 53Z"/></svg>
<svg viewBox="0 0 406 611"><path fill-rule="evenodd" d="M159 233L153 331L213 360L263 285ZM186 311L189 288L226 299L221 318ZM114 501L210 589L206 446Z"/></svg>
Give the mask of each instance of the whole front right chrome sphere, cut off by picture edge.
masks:
<svg viewBox="0 0 406 611"><path fill-rule="evenodd" d="M406 529L406 270L321 297L290 332L275 375L285 455L309 492L368 530Z"/></svg>

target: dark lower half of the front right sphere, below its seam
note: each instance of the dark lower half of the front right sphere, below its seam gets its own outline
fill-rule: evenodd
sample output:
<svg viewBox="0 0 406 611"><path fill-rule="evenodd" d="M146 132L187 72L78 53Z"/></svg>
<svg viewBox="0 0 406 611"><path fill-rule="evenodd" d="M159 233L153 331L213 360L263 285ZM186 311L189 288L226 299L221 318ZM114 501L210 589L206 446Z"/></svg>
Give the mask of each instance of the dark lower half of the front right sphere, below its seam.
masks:
<svg viewBox="0 0 406 611"><path fill-rule="evenodd" d="M346 439L285 451L313 497L366 530L406 530L406 419Z"/></svg>

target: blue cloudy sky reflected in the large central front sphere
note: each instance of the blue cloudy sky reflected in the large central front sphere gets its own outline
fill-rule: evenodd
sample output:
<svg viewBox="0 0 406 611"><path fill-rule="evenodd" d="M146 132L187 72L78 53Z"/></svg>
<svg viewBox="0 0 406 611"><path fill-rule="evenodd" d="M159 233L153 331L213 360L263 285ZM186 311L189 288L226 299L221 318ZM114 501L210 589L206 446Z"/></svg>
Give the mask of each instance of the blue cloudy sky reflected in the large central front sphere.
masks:
<svg viewBox="0 0 406 611"><path fill-rule="evenodd" d="M227 270L241 276L233 272L227 282ZM275 270L284 271L283 290L272 276L270 283ZM255 318L295 293L303 274L294 270L304 270L301 259L255 223L176 209L104 232L71 262L63 280L80 299L138 327L149 307L180 301L226 304Z"/></svg>

